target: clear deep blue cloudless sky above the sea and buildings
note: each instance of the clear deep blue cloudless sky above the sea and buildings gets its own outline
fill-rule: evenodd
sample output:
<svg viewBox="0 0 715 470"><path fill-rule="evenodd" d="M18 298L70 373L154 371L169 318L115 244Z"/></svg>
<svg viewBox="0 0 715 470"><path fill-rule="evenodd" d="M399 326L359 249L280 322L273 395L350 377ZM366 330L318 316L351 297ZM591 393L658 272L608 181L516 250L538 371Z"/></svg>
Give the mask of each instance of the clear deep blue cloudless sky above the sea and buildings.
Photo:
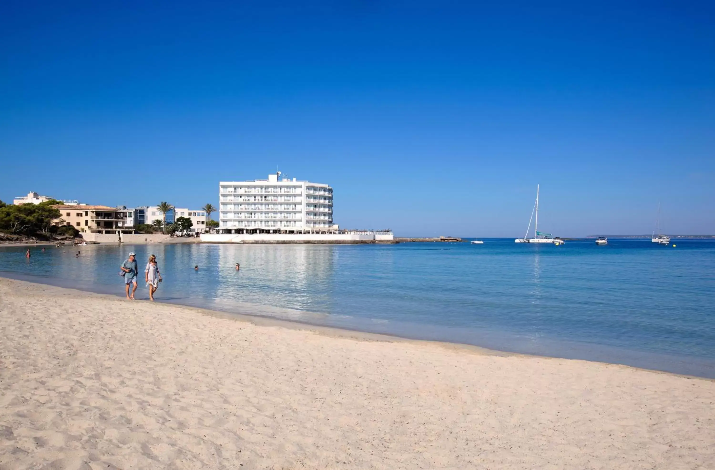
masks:
<svg viewBox="0 0 715 470"><path fill-rule="evenodd" d="M498 4L495 5L495 4ZM715 233L715 2L0 6L0 199L218 204L335 189L335 221Z"/></svg>

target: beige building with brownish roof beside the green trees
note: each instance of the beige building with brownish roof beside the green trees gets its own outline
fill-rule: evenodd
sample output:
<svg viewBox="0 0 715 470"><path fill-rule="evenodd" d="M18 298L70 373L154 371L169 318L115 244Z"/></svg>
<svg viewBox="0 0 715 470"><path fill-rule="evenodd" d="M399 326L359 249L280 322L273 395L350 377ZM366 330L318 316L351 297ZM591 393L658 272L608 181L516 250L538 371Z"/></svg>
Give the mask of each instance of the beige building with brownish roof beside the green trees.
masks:
<svg viewBox="0 0 715 470"><path fill-rule="evenodd" d="M55 225L71 225L79 231L94 234L134 233L134 227L127 224L133 219L132 209L87 204L56 204L52 207L60 212L60 218L53 221Z"/></svg>

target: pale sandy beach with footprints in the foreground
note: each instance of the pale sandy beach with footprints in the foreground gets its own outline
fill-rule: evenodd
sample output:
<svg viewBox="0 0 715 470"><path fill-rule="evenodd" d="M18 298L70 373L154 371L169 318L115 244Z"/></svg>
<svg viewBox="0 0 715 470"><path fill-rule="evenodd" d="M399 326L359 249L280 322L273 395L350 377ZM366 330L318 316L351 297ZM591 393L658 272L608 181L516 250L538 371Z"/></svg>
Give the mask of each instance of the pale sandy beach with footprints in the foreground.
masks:
<svg viewBox="0 0 715 470"><path fill-rule="evenodd" d="M706 379L8 279L0 334L0 469L715 469Z"/></svg>

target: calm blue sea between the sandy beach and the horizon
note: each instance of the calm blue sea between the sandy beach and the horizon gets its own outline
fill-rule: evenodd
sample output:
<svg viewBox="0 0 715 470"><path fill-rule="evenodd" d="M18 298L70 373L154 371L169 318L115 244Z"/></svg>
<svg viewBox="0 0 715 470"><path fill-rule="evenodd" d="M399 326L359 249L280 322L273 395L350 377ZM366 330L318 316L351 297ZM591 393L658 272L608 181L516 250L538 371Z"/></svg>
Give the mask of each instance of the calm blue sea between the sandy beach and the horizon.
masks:
<svg viewBox="0 0 715 470"><path fill-rule="evenodd" d="M715 378L715 241L609 242L2 247L0 275L124 295L136 251L160 301Z"/></svg>

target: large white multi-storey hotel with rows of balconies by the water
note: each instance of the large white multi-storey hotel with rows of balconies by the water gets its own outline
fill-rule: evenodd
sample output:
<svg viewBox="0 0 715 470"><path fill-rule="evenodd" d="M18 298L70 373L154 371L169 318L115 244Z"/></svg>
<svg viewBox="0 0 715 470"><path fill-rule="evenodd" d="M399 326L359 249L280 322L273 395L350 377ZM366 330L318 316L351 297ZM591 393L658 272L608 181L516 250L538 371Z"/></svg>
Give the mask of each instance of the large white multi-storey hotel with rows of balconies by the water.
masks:
<svg viewBox="0 0 715 470"><path fill-rule="evenodd" d="M332 188L280 178L219 183L222 234L304 234L337 231L332 224Z"/></svg>

